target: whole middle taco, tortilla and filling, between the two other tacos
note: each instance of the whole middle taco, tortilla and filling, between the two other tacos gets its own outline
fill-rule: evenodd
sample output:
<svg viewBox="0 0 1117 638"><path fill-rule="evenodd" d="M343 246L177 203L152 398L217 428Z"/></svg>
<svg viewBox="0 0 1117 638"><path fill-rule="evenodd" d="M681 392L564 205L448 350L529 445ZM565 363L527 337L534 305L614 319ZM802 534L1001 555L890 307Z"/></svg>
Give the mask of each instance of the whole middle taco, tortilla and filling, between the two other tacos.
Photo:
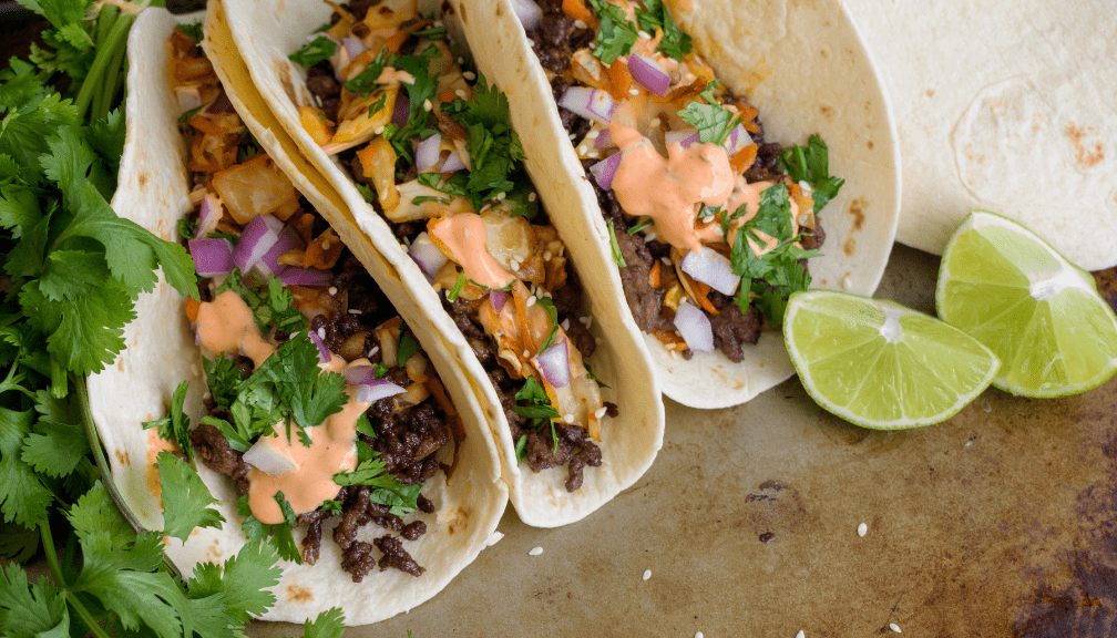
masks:
<svg viewBox="0 0 1117 638"><path fill-rule="evenodd" d="M231 36L220 64L244 60L345 198L341 212L452 333L462 373L497 409L489 426L521 518L576 521L651 465L658 385L617 307L615 273L571 235L571 202L524 170L506 97L450 37L454 23L421 9L211 2L222 28L207 38Z"/></svg>

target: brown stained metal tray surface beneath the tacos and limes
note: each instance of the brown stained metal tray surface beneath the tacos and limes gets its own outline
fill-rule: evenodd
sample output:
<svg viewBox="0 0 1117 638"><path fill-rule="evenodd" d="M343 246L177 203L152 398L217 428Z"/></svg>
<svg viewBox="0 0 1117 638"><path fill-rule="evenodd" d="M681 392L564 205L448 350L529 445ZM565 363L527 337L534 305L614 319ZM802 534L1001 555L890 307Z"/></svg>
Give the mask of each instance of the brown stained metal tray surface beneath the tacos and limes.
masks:
<svg viewBox="0 0 1117 638"><path fill-rule="evenodd" d="M897 246L878 296L933 312L937 267ZM1117 273L1099 283L1117 302ZM844 423L795 379L729 410L668 402L638 485L558 530L509 510L432 601L346 636L1114 636L1115 402L1114 381L989 390L899 432Z"/></svg>

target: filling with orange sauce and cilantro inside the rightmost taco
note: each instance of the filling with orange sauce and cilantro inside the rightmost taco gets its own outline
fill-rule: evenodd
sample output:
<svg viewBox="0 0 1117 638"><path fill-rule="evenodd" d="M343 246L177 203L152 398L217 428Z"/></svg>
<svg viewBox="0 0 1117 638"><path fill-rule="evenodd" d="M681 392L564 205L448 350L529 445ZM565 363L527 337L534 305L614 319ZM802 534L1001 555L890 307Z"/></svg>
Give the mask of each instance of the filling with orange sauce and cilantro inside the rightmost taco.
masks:
<svg viewBox="0 0 1117 638"><path fill-rule="evenodd" d="M733 362L810 285L827 147L766 142L758 112L693 50L661 0L516 2L596 191L637 325L674 354Z"/></svg>

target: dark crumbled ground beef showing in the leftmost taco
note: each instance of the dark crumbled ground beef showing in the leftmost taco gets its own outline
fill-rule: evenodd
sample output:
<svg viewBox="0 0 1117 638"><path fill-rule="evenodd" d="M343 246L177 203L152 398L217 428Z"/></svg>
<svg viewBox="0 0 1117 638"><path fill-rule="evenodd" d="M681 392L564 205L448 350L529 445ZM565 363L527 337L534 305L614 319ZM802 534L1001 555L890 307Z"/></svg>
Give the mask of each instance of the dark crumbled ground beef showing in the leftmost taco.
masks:
<svg viewBox="0 0 1117 638"><path fill-rule="evenodd" d="M379 347L372 336L373 328L394 316L395 311L360 261L347 256L340 263L332 283L332 287L337 291L333 296L338 299L341 307L356 311L356 314L335 312L328 318L326 315L317 315L311 321L309 328L325 335L322 341L331 352L349 360L365 356L373 363L380 362ZM236 361L244 378L252 373L251 360L238 356ZM393 368L386 379L403 385L409 383L407 371L401 368ZM212 416L232 420L228 410L219 408L212 401L207 407ZM458 418L447 416L433 397L401 409L395 409L393 398L381 399L369 408L365 416L376 436L357 436L380 453L386 472L401 483L422 483L439 469L449 477L452 464L440 464L435 453L445 445L460 441L464 434ZM248 493L249 466L241 453L229 447L218 428L199 425L190 432L190 440L194 446L194 454L208 468L232 478L240 494ZM372 503L369 495L367 486L349 486L340 487L335 497L342 502L341 521L333 531L334 541L342 549L342 569L352 575L353 582L361 582L373 566L379 566L381 571L388 568L399 569L416 577L422 574L424 568L408 554L400 539L418 540L427 532L427 524L422 521L404 523L388 506ZM421 494L418 506L421 512L435 512L433 503ZM306 526L302 543L302 555L306 563L314 564L317 561L323 525L335 516L337 515L322 510L299 514L298 525ZM399 537L386 534L372 543L359 541L359 530L370 523L399 534Z"/></svg>

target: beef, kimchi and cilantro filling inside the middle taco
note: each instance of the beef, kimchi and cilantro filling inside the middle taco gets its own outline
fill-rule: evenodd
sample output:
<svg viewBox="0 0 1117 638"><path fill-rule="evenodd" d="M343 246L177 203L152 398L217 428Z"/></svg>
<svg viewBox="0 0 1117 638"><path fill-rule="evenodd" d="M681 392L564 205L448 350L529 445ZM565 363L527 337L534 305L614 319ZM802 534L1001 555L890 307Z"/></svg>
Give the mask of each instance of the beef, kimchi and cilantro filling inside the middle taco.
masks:
<svg viewBox="0 0 1117 638"><path fill-rule="evenodd" d="M615 408L585 362L591 317L506 97L413 2L331 6L290 56L317 103L302 107L303 127L440 293L500 397L517 463L565 465L579 489Z"/></svg>

